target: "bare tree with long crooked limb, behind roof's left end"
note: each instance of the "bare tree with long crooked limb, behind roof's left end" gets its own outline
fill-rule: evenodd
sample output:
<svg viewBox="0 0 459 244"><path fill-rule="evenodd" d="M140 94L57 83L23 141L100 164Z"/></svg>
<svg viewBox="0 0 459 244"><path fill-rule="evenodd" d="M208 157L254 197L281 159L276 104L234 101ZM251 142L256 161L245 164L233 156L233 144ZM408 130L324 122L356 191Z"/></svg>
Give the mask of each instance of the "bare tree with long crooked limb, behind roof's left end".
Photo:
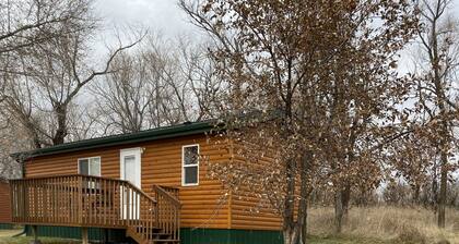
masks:
<svg viewBox="0 0 459 244"><path fill-rule="evenodd" d="M69 134L69 109L81 89L109 73L115 57L141 39L138 37L127 46L119 41L102 68L87 65L87 42L96 28L91 13L85 16L70 34L27 48L19 60L21 72L7 81L5 108L28 131L36 148L64 142Z"/></svg>

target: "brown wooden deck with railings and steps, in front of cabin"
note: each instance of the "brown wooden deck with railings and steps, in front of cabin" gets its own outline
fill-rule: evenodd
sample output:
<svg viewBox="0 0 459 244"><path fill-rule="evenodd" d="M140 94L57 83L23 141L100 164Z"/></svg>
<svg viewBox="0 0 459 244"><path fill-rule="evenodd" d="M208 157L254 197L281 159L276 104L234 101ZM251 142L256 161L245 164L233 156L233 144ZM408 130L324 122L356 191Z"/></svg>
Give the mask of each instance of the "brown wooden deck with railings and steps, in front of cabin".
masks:
<svg viewBox="0 0 459 244"><path fill-rule="evenodd" d="M10 181L12 221L31 225L126 229L138 243L178 243L178 190L153 185L154 196L127 181L60 175Z"/></svg>

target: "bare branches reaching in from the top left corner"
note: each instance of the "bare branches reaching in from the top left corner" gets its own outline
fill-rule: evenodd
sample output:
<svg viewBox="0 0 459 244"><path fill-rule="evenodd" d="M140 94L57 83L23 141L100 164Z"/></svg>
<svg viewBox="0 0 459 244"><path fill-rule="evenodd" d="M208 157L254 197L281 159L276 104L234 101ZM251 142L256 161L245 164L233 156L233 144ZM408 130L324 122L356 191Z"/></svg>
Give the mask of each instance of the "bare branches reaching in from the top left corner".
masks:
<svg viewBox="0 0 459 244"><path fill-rule="evenodd" d="M0 2L0 56L26 51L81 26L87 0L8 0Z"/></svg>

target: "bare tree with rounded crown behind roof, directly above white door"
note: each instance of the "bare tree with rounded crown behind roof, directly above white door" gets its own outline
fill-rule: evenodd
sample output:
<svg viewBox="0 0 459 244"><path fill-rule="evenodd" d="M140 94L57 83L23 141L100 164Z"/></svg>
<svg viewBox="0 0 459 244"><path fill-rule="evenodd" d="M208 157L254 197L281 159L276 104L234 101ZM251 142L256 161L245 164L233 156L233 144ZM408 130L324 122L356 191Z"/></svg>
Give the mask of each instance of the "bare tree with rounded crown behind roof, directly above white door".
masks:
<svg viewBox="0 0 459 244"><path fill-rule="evenodd" d="M150 72L145 59L138 54L121 54L111 64L116 72L94 85L108 134L139 132L149 129L148 112L154 102L157 75ZM115 131L113 131L115 130Z"/></svg>

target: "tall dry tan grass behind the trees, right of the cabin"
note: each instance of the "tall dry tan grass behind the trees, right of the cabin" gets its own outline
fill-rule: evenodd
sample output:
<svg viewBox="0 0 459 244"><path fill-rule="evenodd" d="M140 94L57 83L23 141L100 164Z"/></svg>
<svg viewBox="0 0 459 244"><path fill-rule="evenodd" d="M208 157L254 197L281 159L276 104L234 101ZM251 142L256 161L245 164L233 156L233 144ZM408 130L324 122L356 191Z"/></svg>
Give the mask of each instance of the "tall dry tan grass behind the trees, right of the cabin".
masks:
<svg viewBox="0 0 459 244"><path fill-rule="evenodd" d="M435 213L424 208L352 208L342 234L395 243L431 244L448 240L459 244L459 211L448 209L446 215L446 228L440 230L436 227ZM332 235L332 208L313 208L308 218L310 234Z"/></svg>

